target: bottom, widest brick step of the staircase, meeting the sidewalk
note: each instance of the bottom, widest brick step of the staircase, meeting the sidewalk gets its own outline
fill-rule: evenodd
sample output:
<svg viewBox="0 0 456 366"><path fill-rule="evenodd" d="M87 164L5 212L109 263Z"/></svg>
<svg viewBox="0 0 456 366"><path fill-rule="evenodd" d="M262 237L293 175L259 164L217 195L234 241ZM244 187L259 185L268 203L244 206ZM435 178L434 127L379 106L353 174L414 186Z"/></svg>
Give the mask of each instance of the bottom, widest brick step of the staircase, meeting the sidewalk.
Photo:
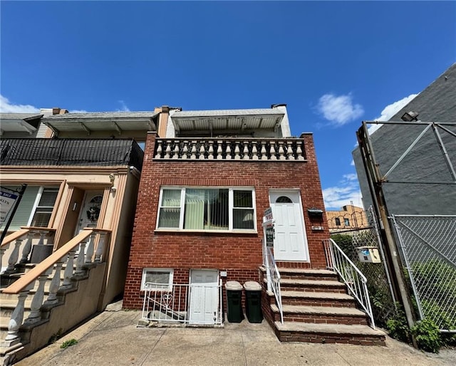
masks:
<svg viewBox="0 0 456 366"><path fill-rule="evenodd" d="M374 330L368 325L341 325L274 323L274 331L281 342L306 343L350 343L352 345L385 345L382 330Z"/></svg>

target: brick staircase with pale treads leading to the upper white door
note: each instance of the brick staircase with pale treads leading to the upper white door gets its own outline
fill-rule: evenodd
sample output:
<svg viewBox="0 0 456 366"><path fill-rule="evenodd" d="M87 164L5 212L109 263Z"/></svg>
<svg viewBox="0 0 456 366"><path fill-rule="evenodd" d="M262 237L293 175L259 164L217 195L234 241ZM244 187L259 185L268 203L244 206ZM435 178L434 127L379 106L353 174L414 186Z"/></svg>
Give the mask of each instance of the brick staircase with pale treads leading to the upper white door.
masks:
<svg viewBox="0 0 456 366"><path fill-rule="evenodd" d="M356 308L344 283L333 271L279 268L284 324L274 293L263 276L264 318L281 342L385 345L385 333L368 325L368 316Z"/></svg>

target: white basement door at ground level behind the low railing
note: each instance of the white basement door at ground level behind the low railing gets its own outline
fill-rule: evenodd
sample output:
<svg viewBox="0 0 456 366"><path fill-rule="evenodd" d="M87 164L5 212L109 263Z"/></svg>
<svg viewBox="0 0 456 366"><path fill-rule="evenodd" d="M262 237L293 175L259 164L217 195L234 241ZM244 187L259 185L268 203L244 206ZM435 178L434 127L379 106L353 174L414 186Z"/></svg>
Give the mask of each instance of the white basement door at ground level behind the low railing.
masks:
<svg viewBox="0 0 456 366"><path fill-rule="evenodd" d="M219 318L219 271L190 272L190 324L215 324Z"/></svg>

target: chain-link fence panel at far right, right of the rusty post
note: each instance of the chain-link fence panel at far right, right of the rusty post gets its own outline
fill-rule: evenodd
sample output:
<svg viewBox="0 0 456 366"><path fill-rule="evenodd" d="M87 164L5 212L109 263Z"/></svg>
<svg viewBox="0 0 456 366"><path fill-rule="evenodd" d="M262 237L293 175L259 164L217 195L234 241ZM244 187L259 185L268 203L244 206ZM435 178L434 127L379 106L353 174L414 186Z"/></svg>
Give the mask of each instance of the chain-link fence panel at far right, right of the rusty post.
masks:
<svg viewBox="0 0 456 366"><path fill-rule="evenodd" d="M420 319L456 332L456 216L392 215Z"/></svg>

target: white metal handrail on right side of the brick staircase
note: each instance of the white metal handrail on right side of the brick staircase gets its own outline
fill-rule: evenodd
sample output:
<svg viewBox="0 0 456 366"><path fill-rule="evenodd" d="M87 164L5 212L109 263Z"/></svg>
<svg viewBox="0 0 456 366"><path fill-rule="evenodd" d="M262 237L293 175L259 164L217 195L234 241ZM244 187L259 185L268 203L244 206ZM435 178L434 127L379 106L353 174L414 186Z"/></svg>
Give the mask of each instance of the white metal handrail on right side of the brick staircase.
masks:
<svg viewBox="0 0 456 366"><path fill-rule="evenodd" d="M328 268L331 268L338 273L343 283L348 287L348 291L350 291L351 295L358 300L361 308L366 311L371 319L371 327L375 329L366 276L361 273L358 267L355 266L355 263L348 258L346 253L343 253L342 249L333 241L333 239L323 240L323 245Z"/></svg>

